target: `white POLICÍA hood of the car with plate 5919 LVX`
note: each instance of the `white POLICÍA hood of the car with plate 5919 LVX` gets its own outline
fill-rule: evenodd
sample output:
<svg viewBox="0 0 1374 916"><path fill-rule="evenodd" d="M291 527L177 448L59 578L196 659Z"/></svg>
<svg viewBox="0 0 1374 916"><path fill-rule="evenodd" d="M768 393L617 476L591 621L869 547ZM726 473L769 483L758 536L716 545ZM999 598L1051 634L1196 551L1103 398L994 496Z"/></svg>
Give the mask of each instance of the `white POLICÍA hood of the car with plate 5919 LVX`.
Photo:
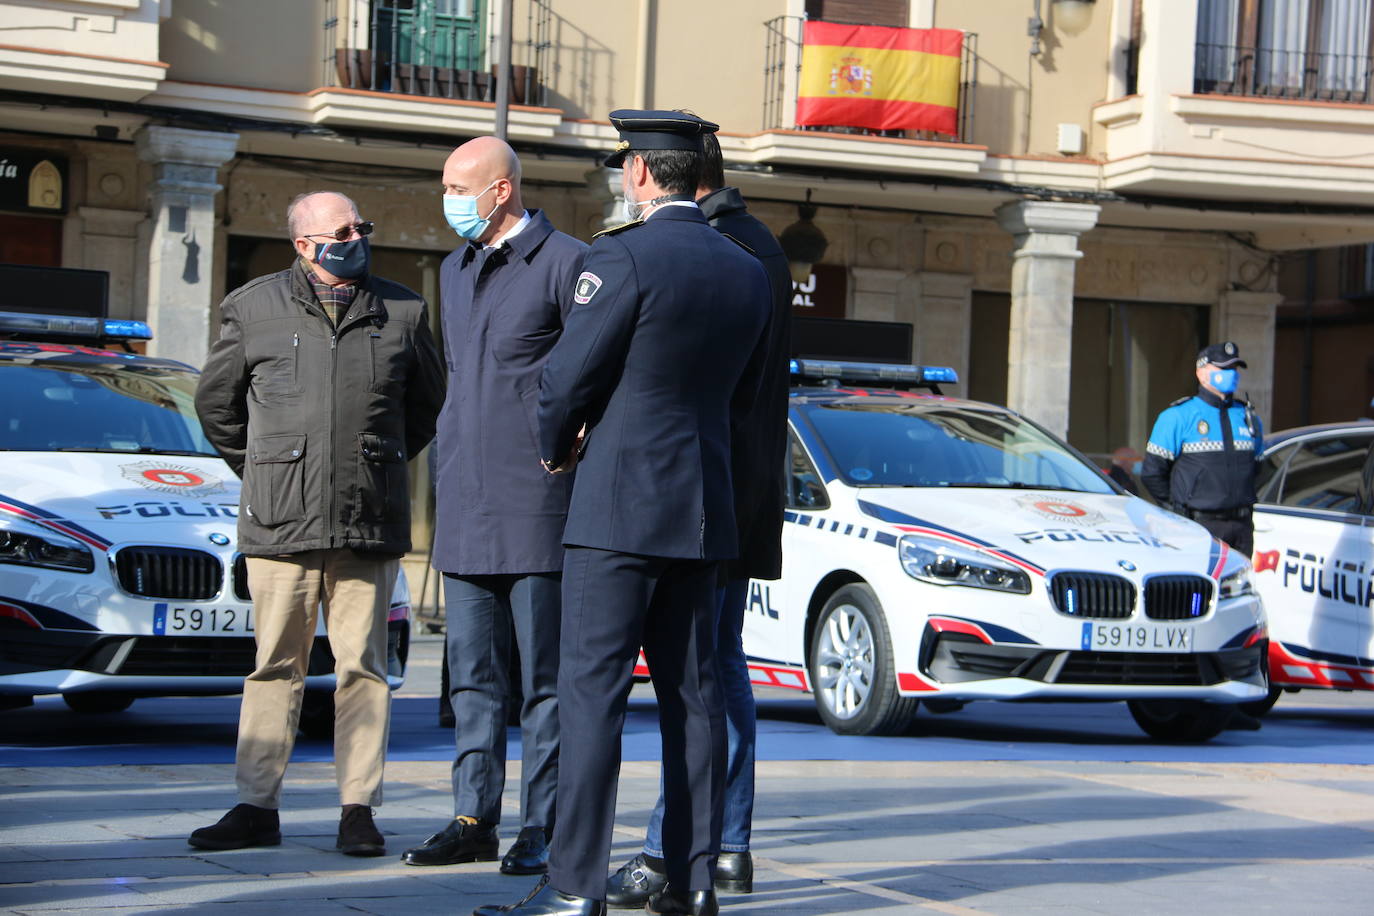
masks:
<svg viewBox="0 0 1374 916"><path fill-rule="evenodd" d="M963 540L1037 571L1197 573L1245 563L1201 525L1134 496L960 488L860 488L866 515L901 533Z"/></svg>

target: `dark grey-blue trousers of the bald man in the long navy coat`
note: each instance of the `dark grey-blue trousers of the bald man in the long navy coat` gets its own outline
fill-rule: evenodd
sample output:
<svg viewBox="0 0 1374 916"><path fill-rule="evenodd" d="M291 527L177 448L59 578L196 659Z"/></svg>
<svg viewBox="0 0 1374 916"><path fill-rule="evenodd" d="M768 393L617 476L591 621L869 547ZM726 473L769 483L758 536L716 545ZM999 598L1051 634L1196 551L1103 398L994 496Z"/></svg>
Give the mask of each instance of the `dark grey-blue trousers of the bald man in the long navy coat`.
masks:
<svg viewBox="0 0 1374 916"><path fill-rule="evenodd" d="M558 786L561 584L534 575L444 574L449 700L453 705L453 814L492 824L506 787L511 633L519 651L521 827L554 825Z"/></svg>

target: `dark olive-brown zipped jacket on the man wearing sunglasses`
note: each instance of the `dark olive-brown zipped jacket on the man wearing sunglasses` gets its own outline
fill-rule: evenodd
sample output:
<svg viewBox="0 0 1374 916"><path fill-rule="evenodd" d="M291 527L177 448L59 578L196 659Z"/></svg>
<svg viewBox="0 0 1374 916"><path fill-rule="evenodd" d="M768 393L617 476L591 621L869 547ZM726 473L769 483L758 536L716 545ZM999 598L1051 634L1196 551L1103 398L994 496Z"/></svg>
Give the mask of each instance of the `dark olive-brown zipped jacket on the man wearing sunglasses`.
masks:
<svg viewBox="0 0 1374 916"><path fill-rule="evenodd" d="M195 409L243 478L239 551L409 551L405 463L444 402L425 299L368 276L335 325L297 264L229 293L220 321Z"/></svg>

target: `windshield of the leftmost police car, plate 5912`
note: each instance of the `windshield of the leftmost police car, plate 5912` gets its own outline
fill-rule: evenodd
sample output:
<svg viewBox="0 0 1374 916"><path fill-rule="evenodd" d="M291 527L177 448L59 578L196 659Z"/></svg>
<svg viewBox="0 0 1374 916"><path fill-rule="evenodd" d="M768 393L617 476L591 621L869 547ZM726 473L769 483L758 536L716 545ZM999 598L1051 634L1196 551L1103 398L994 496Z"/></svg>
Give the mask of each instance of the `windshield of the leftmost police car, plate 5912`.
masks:
<svg viewBox="0 0 1374 916"><path fill-rule="evenodd" d="M0 360L0 449L210 455L190 369Z"/></svg>

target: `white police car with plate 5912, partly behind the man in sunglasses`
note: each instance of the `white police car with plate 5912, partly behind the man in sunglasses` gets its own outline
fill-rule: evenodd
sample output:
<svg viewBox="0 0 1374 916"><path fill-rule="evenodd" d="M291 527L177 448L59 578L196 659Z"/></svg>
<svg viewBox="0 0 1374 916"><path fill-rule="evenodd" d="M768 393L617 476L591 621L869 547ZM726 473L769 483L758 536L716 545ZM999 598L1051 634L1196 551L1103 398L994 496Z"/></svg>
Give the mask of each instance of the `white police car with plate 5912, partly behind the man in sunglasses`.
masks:
<svg viewBox="0 0 1374 916"><path fill-rule="evenodd" d="M103 349L150 336L137 321L0 313L0 709L236 694L253 670L239 479L201 433L196 372ZM408 636L401 575L393 688ZM308 731L330 728L333 670L316 640Z"/></svg>

